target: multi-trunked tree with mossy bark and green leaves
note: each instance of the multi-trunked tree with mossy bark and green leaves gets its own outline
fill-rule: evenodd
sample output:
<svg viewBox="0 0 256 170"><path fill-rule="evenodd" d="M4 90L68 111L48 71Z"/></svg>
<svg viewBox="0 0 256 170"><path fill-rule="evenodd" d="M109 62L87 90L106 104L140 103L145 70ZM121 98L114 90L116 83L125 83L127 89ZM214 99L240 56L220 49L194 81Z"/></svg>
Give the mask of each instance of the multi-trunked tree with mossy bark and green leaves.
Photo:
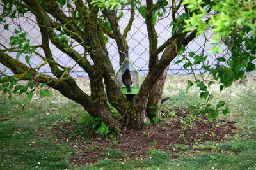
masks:
<svg viewBox="0 0 256 170"><path fill-rule="evenodd" d="M0 49L0 62L14 73L13 76L8 76L1 71L0 82L3 83L1 89L4 93L19 92L22 94L26 92L31 99L35 87L48 85L61 92L63 96L81 104L92 117L102 118L104 124L110 129L123 129L127 124L134 129L141 129L145 127L147 118L152 120L157 116L157 106L161 99L167 69L177 55L183 56L183 59L178 62L185 62L184 68L203 63L204 69L210 71L216 80L220 79L221 90L223 87L230 86L234 80L242 78L243 69L246 71L255 69L252 62L255 59L255 2L184 0L178 3L172 1L167 7L168 4L169 2L165 0L147 0L145 4L136 0L2 0L1 23L4 24L6 17L15 18L18 13L24 16L25 13L31 12L35 15L36 24L40 28L42 43L31 46L29 39L26 38L26 32L15 29L16 36L10 38L12 48L1 45L2 49ZM71 17L63 12L64 6L68 8ZM124 32L121 32L118 24L118 11L124 8L130 8L131 17ZM166 12L166 8L170 8L168 17L172 17L173 20L170 23L172 35L168 35L170 38L159 46L155 21L157 17L161 17ZM184 13L177 13L182 9ZM129 56L126 38L134 21L135 10L138 10L145 18L147 25L150 47L149 73L138 94L125 97L120 92L108 57L106 37L115 39L120 64L122 64L125 57ZM237 11L236 15L232 15L234 11ZM4 28L8 29L8 24L5 24ZM228 60L228 66L220 63L214 67L204 64L207 59L204 53L197 55L191 52L189 57L193 61L188 59L185 52L186 45L198 34L204 34L209 29L216 32L214 36L216 42L212 43L211 52L221 52L218 44L225 43L232 53L228 59L224 57L217 59L219 62ZM72 41L83 46L83 54L74 50L77 45L72 46L70 44ZM88 73L90 95L84 93L76 81L69 76L73 67L63 67L54 60L49 47L50 42L75 60ZM42 48L44 55L37 53L37 48ZM13 59L5 52L17 52L17 59ZM161 52L163 55L159 56ZM27 63L19 61L20 55L26 56ZM54 77L38 73L43 64L31 67L29 65L31 55L38 55L44 61L43 64L49 64ZM89 61L89 57L93 64ZM22 79L29 80L28 85L16 85L16 82ZM216 117L218 109L223 107L225 102L220 101L215 108L209 105L208 101L212 96L207 91L207 87L212 84L212 81L196 78L195 82L188 82L188 87L194 84L201 90L200 97L206 99L207 102L198 104L191 110L194 113L209 113L211 118ZM40 96L49 96L49 91L41 90ZM116 108L120 113L119 116L113 115L109 104ZM223 111L227 113L228 108L223 108Z"/></svg>

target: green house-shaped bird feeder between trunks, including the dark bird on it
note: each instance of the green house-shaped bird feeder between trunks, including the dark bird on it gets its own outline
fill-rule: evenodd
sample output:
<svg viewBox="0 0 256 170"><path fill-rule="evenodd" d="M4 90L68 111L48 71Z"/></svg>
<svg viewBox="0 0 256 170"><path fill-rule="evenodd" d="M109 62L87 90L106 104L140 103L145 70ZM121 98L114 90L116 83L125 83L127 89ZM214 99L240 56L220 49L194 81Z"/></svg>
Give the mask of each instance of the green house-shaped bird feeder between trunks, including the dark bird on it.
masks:
<svg viewBox="0 0 256 170"><path fill-rule="evenodd" d="M140 74L126 57L116 77L122 94L138 94L140 90Z"/></svg>

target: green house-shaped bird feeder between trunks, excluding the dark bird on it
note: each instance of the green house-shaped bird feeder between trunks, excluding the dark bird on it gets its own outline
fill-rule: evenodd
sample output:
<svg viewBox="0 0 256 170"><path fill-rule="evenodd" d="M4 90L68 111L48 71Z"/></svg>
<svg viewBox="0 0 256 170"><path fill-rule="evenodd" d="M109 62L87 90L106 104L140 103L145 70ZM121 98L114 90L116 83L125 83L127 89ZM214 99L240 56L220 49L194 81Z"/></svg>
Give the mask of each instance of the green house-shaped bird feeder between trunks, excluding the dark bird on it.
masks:
<svg viewBox="0 0 256 170"><path fill-rule="evenodd" d="M124 82L122 80L122 76L127 69L129 70L131 75L131 92L128 92L127 87L124 85ZM131 61L127 57L125 58L124 62L121 64L120 68L116 72L116 77L122 94L138 94L140 90L140 74L134 68Z"/></svg>

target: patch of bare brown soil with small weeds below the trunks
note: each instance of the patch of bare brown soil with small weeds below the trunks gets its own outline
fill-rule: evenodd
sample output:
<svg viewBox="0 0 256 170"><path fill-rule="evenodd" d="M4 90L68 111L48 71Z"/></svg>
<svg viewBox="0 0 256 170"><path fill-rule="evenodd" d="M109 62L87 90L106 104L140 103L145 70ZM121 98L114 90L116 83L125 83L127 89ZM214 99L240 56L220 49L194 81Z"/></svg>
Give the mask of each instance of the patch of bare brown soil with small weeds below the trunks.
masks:
<svg viewBox="0 0 256 170"><path fill-rule="evenodd" d="M52 134L57 136L58 143L74 148L76 155L70 161L82 166L106 159L105 152L109 148L127 153L129 159L138 159L143 157L147 148L177 152L173 150L174 144L192 146L205 141L221 141L232 136L232 130L236 129L236 122L209 122L205 117L191 117L185 108L164 111L162 116L161 123L151 125L148 129L127 129L119 136L108 138L97 134L88 138L70 138L71 126L58 127Z"/></svg>

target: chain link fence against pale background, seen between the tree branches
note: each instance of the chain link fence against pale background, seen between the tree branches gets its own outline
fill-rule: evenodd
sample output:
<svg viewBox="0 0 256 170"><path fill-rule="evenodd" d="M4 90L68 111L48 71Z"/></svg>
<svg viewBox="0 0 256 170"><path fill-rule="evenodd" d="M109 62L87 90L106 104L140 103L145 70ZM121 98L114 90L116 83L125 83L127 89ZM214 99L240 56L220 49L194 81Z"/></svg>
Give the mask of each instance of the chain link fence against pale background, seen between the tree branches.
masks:
<svg viewBox="0 0 256 170"><path fill-rule="evenodd" d="M3 11L0 7L0 13ZM130 18L130 11L129 9L124 10L124 15L120 19L120 28L121 31L124 31L126 25L129 22ZM179 11L179 13L182 13L183 11ZM66 12L67 15L70 15L68 11ZM172 18L168 16L168 11L166 12L166 15L163 16L164 19L157 20L156 23L156 31L159 36L159 42L158 45L160 46L163 44L170 36L172 35L172 27L170 27L170 22L172 22ZM41 44L41 36L40 36L40 29L38 25L36 25L35 22L35 16L32 13L26 13L24 17L18 17L14 20L7 20L6 24L9 24L9 30L5 30L3 25L0 25L0 42L3 48L3 46L6 46L6 48L10 48L9 40L10 37L14 35L15 28L21 29L24 32L28 33L28 39L30 39L31 45L40 45ZM208 32L205 34L207 39L211 39L212 32ZM191 43L189 43L186 46L186 52L195 52L197 54L202 53L202 49L205 49L205 55L207 54L207 50L211 48L208 41L205 41L205 36L198 36ZM129 31L127 35L127 43L129 45L129 59L134 64L135 68L139 71L139 73L143 76L148 73L148 60L149 60L149 44L148 44L148 35L147 35L147 27L145 25L145 19L140 15L140 13L136 13L134 18L134 24L132 25L131 31ZM205 46L204 46L204 43ZM204 47L203 47L204 46ZM118 55L118 48L116 46L116 43L113 39L109 38L108 44L108 54L111 59L111 62L113 64L113 67L115 71L119 67L119 55ZM83 53L83 48L81 46L76 46L75 48L77 52ZM78 66L72 60L68 55L61 52L56 48L56 46L51 44L51 50L52 54L54 56L54 59L56 59L56 62L60 63L62 66L75 66L74 69L70 72L71 76L73 77L86 77L86 72ZM36 52L41 53L44 55L44 52L42 49L38 49ZM227 53L227 47L223 46L223 52ZM161 57L161 54L159 54L159 58ZM10 52L8 55L11 55L12 57L15 57L15 52ZM223 54L222 54L223 55ZM227 53L228 55L228 53ZM209 55L206 63L210 64L212 67L214 67L214 64L216 64L216 55ZM20 61L25 62L25 57L20 57ZM184 69L182 66L184 63L174 64L177 60L180 60L180 56L177 56L171 63L168 68L168 74L169 75L175 75L175 74L191 74L191 69ZM40 57L33 55L31 57L31 66L36 67L39 64L41 64L43 61ZM6 69L3 65L0 64L0 69ZM201 69L200 65L193 66L193 70L196 74L198 73L204 73L205 70ZM8 69L6 69L6 73L12 74L12 72ZM49 65L42 66L40 68L40 73L51 75L51 69Z"/></svg>

